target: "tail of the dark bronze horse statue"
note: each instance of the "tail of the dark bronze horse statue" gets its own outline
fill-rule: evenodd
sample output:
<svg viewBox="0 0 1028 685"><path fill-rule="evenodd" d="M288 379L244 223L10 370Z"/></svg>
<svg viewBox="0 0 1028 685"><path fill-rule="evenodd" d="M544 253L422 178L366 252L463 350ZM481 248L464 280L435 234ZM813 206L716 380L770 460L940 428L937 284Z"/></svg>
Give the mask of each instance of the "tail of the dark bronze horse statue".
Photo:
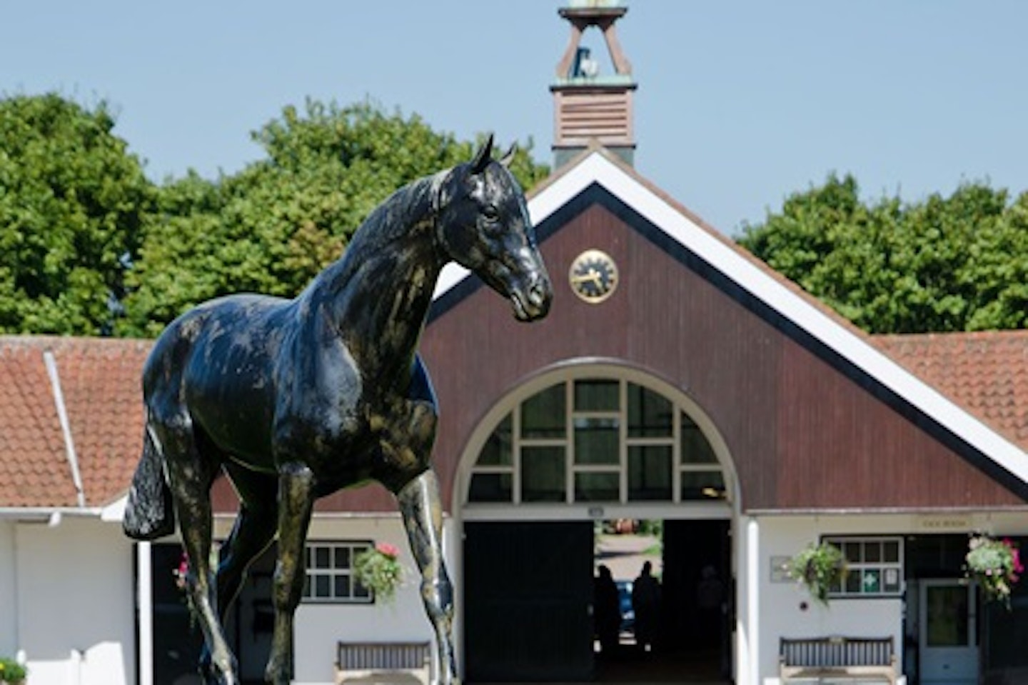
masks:
<svg viewBox="0 0 1028 685"><path fill-rule="evenodd" d="M156 540L175 532L172 490L149 426L143 434L143 457L132 479L121 527L125 535L136 540Z"/></svg>

